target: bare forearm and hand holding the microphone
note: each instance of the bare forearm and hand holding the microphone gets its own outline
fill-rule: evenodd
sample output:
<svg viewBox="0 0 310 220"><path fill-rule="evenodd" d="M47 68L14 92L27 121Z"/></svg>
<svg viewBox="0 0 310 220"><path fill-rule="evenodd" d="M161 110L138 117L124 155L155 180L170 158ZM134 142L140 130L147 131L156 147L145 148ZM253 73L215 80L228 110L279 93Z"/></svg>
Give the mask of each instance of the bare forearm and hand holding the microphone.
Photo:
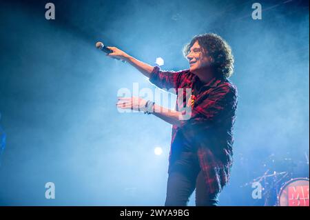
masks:
<svg viewBox="0 0 310 220"><path fill-rule="evenodd" d="M139 61L138 59L128 55L127 53L123 52L123 50L120 50L115 47L107 47L110 50L113 50L112 53L107 54L108 57L122 59L123 61L126 61L127 63L130 63L134 68L136 68L139 72L143 73L145 77L149 78L151 72L154 69L154 66L150 66L147 63L143 63L142 61Z"/></svg>

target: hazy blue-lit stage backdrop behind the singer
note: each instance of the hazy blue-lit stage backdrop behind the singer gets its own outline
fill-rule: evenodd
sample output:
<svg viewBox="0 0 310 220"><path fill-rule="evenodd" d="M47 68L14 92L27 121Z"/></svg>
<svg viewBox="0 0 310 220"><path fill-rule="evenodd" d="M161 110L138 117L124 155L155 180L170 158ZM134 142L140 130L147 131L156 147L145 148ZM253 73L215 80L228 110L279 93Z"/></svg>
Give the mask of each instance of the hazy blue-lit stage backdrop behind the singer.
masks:
<svg viewBox="0 0 310 220"><path fill-rule="evenodd" d="M188 68L181 49L195 34L229 42L239 106L220 206L262 206L246 183L268 169L309 177L307 1L258 1L261 20L251 18L256 1L54 0L46 20L48 2L1 0L1 206L164 204L171 126L118 112L120 88L155 88L96 50L99 40L150 64L162 57L166 70Z"/></svg>

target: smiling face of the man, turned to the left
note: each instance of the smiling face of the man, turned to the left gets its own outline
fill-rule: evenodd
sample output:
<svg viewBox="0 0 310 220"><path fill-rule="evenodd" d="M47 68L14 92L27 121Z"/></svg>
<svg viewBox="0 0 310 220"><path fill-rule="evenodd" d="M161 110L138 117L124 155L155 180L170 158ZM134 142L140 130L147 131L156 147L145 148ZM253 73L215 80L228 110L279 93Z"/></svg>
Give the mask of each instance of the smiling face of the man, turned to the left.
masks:
<svg viewBox="0 0 310 220"><path fill-rule="evenodd" d="M208 57L206 54L207 51L204 51L203 48L200 47L198 41L196 41L192 48L189 49L189 54L187 54L189 71L196 73L209 66L211 63L211 57Z"/></svg>

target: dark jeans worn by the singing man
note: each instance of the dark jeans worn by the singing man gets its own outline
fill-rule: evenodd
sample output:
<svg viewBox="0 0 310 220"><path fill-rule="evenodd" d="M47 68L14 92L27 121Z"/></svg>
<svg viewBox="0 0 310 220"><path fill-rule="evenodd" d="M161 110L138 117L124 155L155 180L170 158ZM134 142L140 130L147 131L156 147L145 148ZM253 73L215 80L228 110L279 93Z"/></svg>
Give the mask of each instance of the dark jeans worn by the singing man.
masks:
<svg viewBox="0 0 310 220"><path fill-rule="evenodd" d="M195 188L196 206L217 206L218 193L209 193L198 159L184 157L169 171L165 206L187 206Z"/></svg>

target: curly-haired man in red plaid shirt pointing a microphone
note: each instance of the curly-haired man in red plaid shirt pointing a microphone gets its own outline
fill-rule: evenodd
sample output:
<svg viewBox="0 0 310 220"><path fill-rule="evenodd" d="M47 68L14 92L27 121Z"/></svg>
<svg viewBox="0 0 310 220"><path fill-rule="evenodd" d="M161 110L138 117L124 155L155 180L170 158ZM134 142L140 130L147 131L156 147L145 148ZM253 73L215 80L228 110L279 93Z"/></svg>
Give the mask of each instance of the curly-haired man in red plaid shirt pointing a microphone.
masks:
<svg viewBox="0 0 310 220"><path fill-rule="evenodd" d="M217 206L218 194L229 181L237 108L236 86L228 79L234 72L230 46L217 34L197 35L183 48L189 70L178 72L163 71L118 48L107 48L112 50L108 57L130 63L158 88L191 88L192 112L187 120L180 117L178 101L176 110L139 97L119 98L116 106L154 114L172 124L165 206L187 206L195 188L196 206Z"/></svg>

